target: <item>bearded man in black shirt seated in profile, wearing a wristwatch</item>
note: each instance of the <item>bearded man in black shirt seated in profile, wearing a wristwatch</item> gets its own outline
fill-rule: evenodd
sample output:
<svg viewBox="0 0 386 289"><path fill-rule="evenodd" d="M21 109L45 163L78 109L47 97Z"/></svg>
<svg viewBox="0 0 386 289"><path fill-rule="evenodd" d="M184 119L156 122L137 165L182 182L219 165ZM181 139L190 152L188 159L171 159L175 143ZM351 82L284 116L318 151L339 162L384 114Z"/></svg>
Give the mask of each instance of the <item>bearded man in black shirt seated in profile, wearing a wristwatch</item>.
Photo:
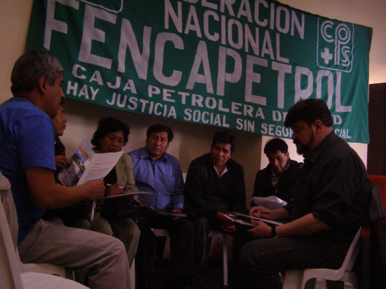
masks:
<svg viewBox="0 0 386 289"><path fill-rule="evenodd" d="M254 241L241 248L243 288L281 288L279 272L342 265L354 235L368 222L371 185L363 162L333 132L331 112L321 99L298 101L288 111L286 127L305 157L293 201L277 210L262 206L250 214L287 221L277 227L253 221ZM261 213L263 212L263 213Z"/></svg>

